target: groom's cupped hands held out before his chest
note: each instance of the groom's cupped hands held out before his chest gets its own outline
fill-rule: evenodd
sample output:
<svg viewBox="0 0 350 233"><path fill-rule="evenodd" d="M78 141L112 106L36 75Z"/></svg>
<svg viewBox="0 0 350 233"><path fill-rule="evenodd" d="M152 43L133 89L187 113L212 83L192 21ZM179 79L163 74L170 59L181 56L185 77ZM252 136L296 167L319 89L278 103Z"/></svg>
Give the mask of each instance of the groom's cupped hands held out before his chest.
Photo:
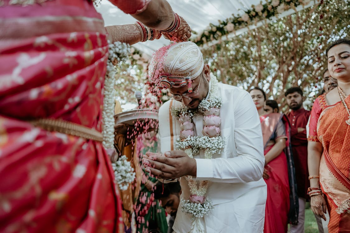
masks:
<svg viewBox="0 0 350 233"><path fill-rule="evenodd" d="M164 154L146 152L142 158L146 172L159 179L176 179L181 176L196 176L197 163L184 151L167 151Z"/></svg>

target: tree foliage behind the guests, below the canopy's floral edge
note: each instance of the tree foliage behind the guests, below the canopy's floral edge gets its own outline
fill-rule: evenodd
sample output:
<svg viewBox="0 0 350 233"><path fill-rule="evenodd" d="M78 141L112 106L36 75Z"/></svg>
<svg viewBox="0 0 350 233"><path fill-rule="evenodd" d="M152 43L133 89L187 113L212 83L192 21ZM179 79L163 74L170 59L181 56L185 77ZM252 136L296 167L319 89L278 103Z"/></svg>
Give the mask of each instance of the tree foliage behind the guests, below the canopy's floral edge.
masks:
<svg viewBox="0 0 350 233"><path fill-rule="evenodd" d="M350 1L321 1L313 7L247 31L202 50L223 83L262 87L286 110L284 92L300 86L309 99L321 92L325 49L350 35Z"/></svg>

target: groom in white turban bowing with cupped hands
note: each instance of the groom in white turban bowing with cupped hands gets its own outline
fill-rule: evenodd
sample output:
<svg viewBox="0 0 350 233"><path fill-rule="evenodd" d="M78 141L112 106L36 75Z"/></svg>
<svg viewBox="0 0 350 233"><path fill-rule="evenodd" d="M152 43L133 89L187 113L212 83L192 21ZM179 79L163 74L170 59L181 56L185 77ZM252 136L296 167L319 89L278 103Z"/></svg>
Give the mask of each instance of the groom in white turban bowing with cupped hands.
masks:
<svg viewBox="0 0 350 233"><path fill-rule="evenodd" d="M193 42L159 49L152 57L149 77L156 87L167 89L170 100L159 109L162 154L147 152L142 159L146 170L164 180L181 177L183 203L214 207L198 218L204 232L261 233L267 194L262 179L265 160L259 116L250 95L218 83ZM175 109L185 109L189 117L174 117ZM198 141L189 140L189 146L176 150L179 140L189 138ZM205 154L200 143L204 138L214 139L204 145ZM199 153L189 152L195 147ZM180 204L173 226L177 233L196 232L186 210Z"/></svg>

